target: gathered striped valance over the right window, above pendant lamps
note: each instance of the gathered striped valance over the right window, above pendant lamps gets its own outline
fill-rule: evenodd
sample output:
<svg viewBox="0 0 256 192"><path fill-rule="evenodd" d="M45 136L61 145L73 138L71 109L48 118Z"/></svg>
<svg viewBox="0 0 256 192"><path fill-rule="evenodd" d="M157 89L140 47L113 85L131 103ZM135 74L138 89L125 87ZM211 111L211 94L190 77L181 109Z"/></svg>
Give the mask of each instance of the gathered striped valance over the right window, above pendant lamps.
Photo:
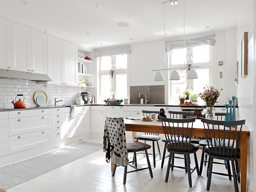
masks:
<svg viewBox="0 0 256 192"><path fill-rule="evenodd" d="M215 34L206 35L203 37L197 37L193 39L185 39L184 40L173 40L173 41L165 41L165 50L166 53L172 51L173 49L183 49L188 47L188 50L191 51L192 47L200 46L200 45L211 45L215 44Z"/></svg>

